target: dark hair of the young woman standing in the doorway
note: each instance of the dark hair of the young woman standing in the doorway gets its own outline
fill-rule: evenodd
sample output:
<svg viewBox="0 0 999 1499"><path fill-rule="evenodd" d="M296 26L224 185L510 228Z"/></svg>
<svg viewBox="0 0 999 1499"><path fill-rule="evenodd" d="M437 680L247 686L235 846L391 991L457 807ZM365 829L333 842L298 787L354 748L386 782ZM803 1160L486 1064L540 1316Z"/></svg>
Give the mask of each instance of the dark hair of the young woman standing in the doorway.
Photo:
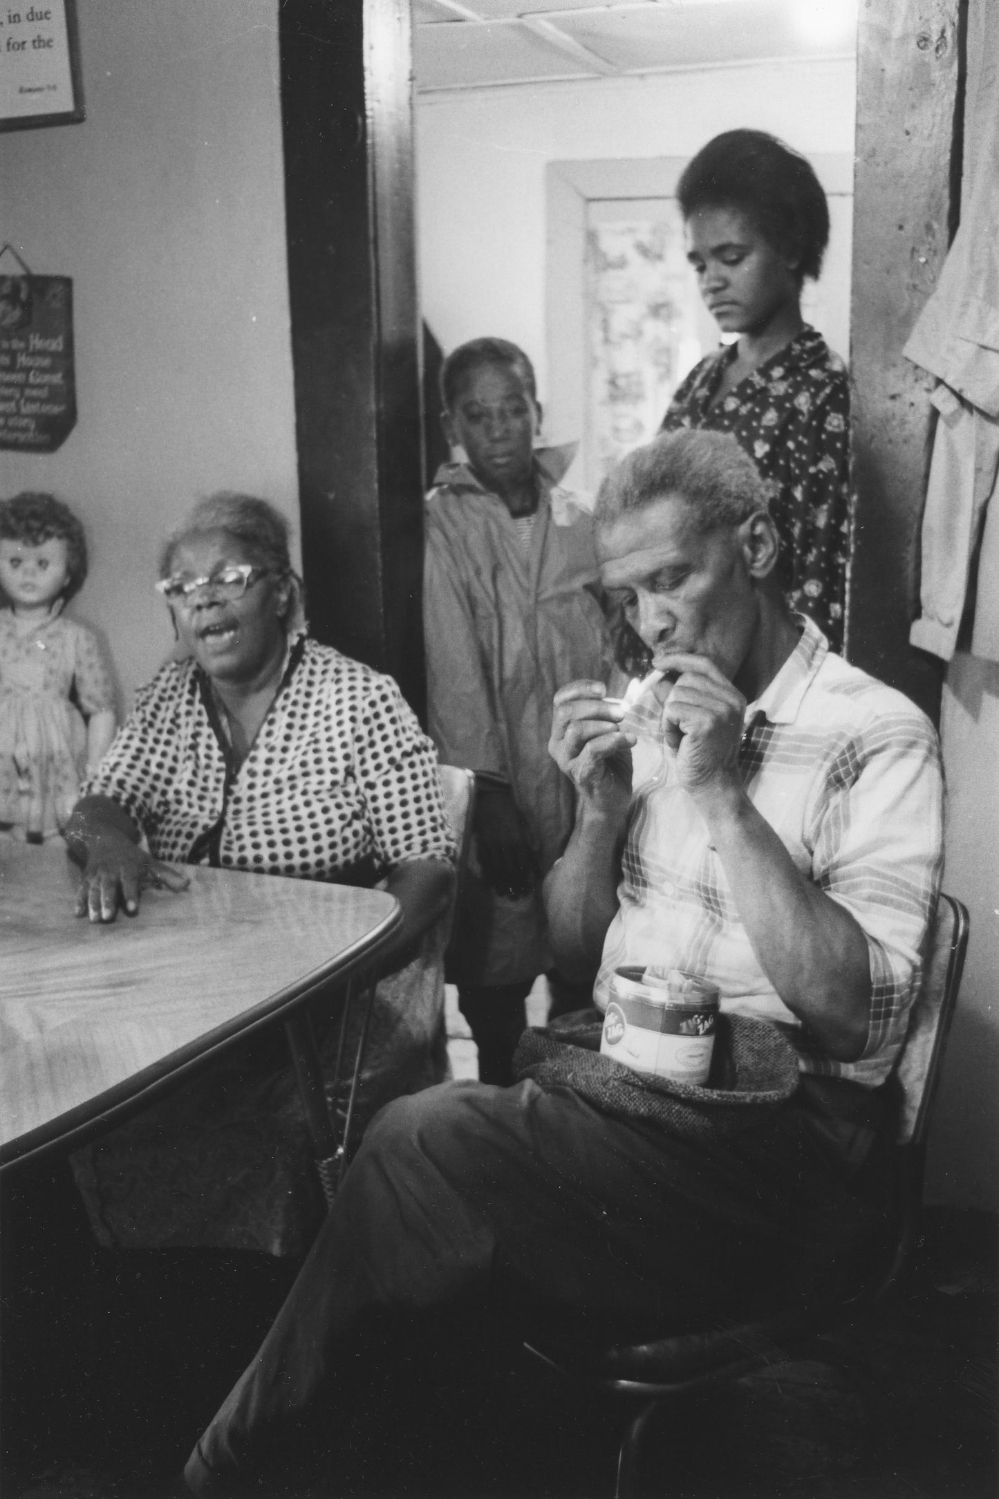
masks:
<svg viewBox="0 0 999 1499"><path fill-rule="evenodd" d="M830 210L812 163L765 130L725 130L702 145L677 184L684 219L698 208L740 208L764 240L818 279Z"/></svg>

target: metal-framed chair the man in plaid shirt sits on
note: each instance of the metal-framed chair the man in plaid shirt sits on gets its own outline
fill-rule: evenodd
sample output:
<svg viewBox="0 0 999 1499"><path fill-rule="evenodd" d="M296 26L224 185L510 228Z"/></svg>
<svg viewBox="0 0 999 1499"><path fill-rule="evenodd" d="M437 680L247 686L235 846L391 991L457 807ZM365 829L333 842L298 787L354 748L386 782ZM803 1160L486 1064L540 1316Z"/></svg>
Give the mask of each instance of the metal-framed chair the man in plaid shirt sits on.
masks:
<svg viewBox="0 0 999 1499"><path fill-rule="evenodd" d="M926 1139L941 1063L968 949L968 911L941 895L927 946L923 986L912 1004L909 1028L894 1067L902 1108L893 1163L893 1201L884 1232L872 1244L863 1280L839 1300L741 1325L711 1327L675 1337L629 1345L580 1345L571 1349L550 1330L533 1330L524 1348L575 1382L641 1400L625 1429L617 1462L619 1499L634 1493L638 1454L649 1423L671 1397L737 1379L789 1352L833 1325L881 1301L897 1283L917 1232L923 1201Z"/></svg>

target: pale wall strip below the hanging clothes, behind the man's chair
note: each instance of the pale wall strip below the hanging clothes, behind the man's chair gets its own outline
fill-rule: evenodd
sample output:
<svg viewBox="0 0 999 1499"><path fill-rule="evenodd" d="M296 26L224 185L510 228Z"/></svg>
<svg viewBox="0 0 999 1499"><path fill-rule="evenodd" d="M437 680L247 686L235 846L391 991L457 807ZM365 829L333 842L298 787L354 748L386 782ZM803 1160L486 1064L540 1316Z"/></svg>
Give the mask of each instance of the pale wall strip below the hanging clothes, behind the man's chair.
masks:
<svg viewBox="0 0 999 1499"><path fill-rule="evenodd" d="M944 887L971 940L941 1079L927 1199L999 1208L999 664L957 654L941 721L948 787Z"/></svg>

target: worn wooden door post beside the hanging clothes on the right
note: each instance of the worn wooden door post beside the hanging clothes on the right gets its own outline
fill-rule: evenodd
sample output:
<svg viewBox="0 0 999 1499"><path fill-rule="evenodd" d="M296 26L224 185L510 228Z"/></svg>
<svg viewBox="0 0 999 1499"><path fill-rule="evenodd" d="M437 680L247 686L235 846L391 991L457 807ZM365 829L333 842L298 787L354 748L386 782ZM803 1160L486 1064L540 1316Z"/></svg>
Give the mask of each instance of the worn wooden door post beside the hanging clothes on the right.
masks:
<svg viewBox="0 0 999 1499"><path fill-rule="evenodd" d="M909 646L933 379L902 349L957 223L959 0L864 0L851 304L857 493L846 652L936 721L942 663Z"/></svg>

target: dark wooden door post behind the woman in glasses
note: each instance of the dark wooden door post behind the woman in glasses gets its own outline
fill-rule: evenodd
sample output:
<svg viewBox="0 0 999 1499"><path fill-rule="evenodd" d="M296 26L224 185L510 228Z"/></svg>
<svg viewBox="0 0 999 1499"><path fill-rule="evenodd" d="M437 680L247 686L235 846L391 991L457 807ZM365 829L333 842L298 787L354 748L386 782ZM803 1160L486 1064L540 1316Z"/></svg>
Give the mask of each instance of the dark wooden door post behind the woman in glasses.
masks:
<svg viewBox="0 0 999 1499"><path fill-rule="evenodd" d="M303 558L313 634L422 714L409 0L282 0Z"/></svg>

